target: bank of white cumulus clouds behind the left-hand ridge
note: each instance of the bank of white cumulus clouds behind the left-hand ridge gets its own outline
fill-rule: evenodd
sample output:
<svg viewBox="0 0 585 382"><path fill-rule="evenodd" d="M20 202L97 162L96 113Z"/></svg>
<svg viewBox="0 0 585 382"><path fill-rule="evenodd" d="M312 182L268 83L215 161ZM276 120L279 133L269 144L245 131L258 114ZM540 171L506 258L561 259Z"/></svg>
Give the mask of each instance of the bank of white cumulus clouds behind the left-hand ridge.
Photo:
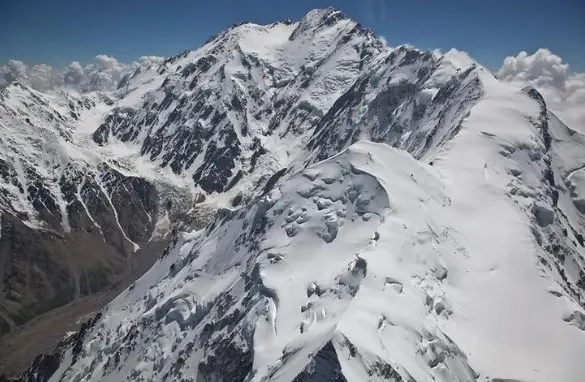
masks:
<svg viewBox="0 0 585 382"><path fill-rule="evenodd" d="M131 63L123 63L114 57L100 54L93 62L83 66L77 61L58 69L46 64L27 65L10 60L0 66L0 89L16 80L34 89L51 92L62 88L81 92L109 91L118 86L120 80L137 69L160 65L164 57L143 56Z"/></svg>

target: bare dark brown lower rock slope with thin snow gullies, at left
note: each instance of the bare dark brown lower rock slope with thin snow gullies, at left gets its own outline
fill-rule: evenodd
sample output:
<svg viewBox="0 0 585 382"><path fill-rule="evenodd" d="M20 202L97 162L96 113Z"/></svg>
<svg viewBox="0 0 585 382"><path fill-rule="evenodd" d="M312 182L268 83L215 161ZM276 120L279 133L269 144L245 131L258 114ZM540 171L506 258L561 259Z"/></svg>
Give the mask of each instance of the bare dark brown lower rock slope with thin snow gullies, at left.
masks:
<svg viewBox="0 0 585 382"><path fill-rule="evenodd" d="M159 208L156 189L108 170L101 180L64 175L63 215L43 183L30 185L27 199L44 223L41 229L2 215L3 307L15 325L102 290L128 270L134 246L148 243L155 223L150 215Z"/></svg>

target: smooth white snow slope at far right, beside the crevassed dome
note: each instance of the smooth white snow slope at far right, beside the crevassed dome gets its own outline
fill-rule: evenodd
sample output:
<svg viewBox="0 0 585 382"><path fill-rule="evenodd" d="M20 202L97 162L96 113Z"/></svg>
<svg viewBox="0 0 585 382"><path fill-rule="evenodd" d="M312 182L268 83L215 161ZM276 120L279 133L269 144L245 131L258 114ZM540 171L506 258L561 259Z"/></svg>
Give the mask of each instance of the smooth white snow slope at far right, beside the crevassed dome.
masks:
<svg viewBox="0 0 585 382"><path fill-rule="evenodd" d="M569 198L561 179L585 160L583 137L533 89L524 97L491 76L482 84L485 97L435 162L452 207L467 216L453 221L468 261L453 275L460 291L445 328L490 376L578 381L583 215L568 222L576 210L560 201Z"/></svg>

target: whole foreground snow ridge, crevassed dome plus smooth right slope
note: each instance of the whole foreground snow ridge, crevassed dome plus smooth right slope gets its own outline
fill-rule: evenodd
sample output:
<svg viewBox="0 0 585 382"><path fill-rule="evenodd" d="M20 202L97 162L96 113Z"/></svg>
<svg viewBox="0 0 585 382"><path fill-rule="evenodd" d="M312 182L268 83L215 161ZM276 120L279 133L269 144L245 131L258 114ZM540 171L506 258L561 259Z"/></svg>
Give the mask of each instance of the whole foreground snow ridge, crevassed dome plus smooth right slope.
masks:
<svg viewBox="0 0 585 382"><path fill-rule="evenodd" d="M433 166L359 142L179 235L52 380L580 381L583 292L535 237L575 212L539 155L564 174L583 137L551 115L546 143L534 93L482 83Z"/></svg>

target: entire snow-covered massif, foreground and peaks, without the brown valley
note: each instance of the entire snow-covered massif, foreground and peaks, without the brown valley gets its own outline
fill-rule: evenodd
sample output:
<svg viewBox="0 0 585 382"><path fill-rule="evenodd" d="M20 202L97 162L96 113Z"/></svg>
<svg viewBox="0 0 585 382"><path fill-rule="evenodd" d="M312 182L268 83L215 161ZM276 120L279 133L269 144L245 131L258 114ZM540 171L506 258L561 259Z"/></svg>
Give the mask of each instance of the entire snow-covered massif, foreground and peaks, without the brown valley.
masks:
<svg viewBox="0 0 585 382"><path fill-rule="evenodd" d="M181 230L30 378L585 375L585 136L465 54L314 10L113 93L12 84L0 107L3 217L68 232L78 206L137 246Z"/></svg>

